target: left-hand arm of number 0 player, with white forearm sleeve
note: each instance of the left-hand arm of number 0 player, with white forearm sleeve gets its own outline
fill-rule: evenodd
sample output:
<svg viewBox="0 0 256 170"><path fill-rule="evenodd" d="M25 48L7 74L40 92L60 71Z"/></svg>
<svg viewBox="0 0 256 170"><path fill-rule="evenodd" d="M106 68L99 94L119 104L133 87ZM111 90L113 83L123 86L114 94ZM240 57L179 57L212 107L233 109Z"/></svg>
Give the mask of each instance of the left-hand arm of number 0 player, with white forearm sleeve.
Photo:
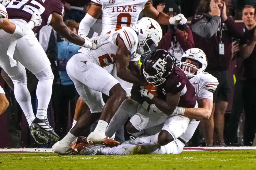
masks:
<svg viewBox="0 0 256 170"><path fill-rule="evenodd" d="M86 37L88 35L90 28L101 15L101 8L102 5L91 2L91 7L88 9L86 15L79 24L79 36Z"/></svg>

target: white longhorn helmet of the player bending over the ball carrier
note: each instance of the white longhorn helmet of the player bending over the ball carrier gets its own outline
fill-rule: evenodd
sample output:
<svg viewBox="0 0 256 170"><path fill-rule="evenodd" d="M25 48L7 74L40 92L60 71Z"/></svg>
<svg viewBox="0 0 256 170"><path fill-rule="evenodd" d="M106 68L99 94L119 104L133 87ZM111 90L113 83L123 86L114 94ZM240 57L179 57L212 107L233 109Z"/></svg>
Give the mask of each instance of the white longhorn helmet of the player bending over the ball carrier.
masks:
<svg viewBox="0 0 256 170"><path fill-rule="evenodd" d="M143 17L136 24L132 25L132 28L138 35L138 54L150 54L150 47L152 45L157 47L162 39L162 28L152 18Z"/></svg>

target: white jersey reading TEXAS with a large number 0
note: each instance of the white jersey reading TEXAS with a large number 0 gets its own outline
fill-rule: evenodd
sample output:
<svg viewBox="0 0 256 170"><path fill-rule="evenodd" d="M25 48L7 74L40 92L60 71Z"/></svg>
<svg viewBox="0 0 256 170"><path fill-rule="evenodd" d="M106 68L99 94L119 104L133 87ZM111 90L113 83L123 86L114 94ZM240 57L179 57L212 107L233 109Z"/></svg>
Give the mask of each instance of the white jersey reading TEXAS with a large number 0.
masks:
<svg viewBox="0 0 256 170"><path fill-rule="evenodd" d="M102 5L102 32L120 27L131 27L139 19L148 0L92 0Z"/></svg>

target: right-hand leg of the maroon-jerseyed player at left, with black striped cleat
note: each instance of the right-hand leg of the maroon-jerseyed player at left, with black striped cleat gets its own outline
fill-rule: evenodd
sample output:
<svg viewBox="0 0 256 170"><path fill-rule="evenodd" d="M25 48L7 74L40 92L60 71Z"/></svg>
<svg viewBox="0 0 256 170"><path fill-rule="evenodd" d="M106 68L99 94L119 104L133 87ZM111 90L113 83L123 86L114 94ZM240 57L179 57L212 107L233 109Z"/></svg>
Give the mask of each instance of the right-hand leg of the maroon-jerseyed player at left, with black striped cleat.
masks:
<svg viewBox="0 0 256 170"><path fill-rule="evenodd" d="M42 133L50 140L57 141L59 136L49 125L47 119L47 109L52 96L53 83L53 73L49 59L35 37L18 40L15 53L16 59L38 79L36 91L38 108L36 118L31 124L31 129L37 133Z"/></svg>

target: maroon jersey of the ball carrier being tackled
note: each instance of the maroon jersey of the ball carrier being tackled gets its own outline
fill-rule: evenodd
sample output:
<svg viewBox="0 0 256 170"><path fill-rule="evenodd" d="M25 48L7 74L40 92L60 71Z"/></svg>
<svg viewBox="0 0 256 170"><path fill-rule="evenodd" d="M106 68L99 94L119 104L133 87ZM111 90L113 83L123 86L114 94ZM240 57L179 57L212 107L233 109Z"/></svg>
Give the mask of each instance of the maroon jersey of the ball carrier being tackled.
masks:
<svg viewBox="0 0 256 170"><path fill-rule="evenodd" d="M158 97L165 99L166 93L177 94L184 88L187 88L185 94L181 94L179 107L193 108L196 106L196 92L195 88L189 82L189 79L178 66L173 70L173 74L168 76L165 83L158 86Z"/></svg>

